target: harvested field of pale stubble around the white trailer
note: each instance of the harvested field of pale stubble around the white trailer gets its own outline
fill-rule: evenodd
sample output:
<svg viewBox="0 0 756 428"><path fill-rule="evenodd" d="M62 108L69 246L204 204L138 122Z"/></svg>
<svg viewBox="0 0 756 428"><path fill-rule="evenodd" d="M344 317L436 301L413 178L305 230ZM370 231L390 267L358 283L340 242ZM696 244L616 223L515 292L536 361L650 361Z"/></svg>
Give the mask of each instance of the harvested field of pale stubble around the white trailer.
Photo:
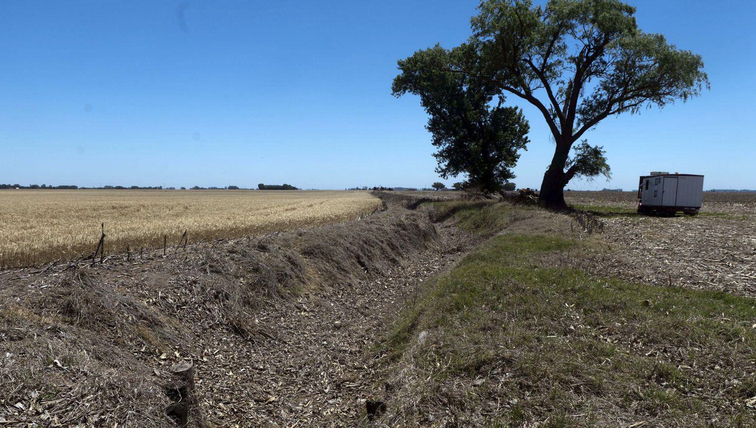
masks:
<svg viewBox="0 0 756 428"><path fill-rule="evenodd" d="M603 275L756 296L756 194L704 193L696 217L635 212L634 192L567 192L569 204L605 222L612 247L596 254Z"/></svg>

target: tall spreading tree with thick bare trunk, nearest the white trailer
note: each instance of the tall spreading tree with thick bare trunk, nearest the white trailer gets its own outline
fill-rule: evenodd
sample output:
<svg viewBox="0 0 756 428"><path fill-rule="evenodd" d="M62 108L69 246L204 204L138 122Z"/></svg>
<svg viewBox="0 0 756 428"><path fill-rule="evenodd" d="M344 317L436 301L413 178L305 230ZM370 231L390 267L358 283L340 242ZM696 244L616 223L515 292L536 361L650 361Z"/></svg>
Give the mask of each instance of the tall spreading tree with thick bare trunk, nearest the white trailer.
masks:
<svg viewBox="0 0 756 428"><path fill-rule="evenodd" d="M451 51L457 61L447 70L541 112L555 143L541 201L553 208L565 206L572 177L609 172L600 147L583 142L570 155L588 130L609 116L685 101L708 87L699 55L638 29L635 8L618 0L549 0L544 8L488 0L479 11L472 37Z"/></svg>

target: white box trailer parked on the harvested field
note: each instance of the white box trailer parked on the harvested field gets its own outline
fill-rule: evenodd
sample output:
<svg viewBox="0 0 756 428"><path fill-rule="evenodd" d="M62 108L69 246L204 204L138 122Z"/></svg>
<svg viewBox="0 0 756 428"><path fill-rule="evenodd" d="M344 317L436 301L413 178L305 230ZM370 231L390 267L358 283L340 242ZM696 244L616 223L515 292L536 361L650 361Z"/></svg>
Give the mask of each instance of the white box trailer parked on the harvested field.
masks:
<svg viewBox="0 0 756 428"><path fill-rule="evenodd" d="M640 177L638 214L696 215L701 209L704 176L652 172Z"/></svg>

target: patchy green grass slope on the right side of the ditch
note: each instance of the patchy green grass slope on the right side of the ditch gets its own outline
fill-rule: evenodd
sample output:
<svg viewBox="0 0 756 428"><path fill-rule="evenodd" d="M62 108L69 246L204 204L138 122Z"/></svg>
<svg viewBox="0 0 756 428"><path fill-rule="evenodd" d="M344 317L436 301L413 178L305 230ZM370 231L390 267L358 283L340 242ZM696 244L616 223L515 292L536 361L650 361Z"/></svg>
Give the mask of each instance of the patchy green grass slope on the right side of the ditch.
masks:
<svg viewBox="0 0 756 428"><path fill-rule="evenodd" d="M485 232L513 218L506 205L435 211ZM585 245L495 236L428 285L382 344L386 421L754 426L754 300L554 266Z"/></svg>

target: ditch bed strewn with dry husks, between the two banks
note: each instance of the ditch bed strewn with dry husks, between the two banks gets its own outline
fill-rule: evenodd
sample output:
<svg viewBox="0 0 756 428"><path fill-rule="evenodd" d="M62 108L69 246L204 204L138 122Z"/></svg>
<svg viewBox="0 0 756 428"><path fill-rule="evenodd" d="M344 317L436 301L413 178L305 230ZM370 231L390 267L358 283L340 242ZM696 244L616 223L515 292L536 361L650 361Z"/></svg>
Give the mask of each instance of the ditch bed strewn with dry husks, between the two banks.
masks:
<svg viewBox="0 0 756 428"><path fill-rule="evenodd" d="M206 337L198 365L203 412L218 426L349 426L373 386L366 352L421 282L448 269L476 238L437 225L440 242L381 279L331 288L258 313L274 338L256 346Z"/></svg>

